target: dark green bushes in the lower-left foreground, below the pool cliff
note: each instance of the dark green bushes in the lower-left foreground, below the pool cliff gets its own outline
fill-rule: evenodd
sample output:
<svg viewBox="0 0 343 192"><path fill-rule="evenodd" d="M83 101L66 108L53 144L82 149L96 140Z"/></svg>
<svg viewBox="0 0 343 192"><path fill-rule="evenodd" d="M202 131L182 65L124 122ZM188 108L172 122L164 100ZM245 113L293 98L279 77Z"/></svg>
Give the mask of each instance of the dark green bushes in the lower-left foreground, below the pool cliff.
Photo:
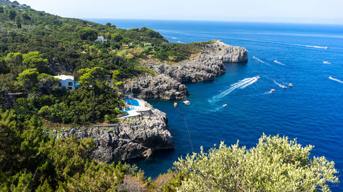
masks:
<svg viewBox="0 0 343 192"><path fill-rule="evenodd" d="M93 139L49 137L36 116L21 121L0 111L0 191L116 191L125 176L143 180L135 167L93 161L94 146Z"/></svg>

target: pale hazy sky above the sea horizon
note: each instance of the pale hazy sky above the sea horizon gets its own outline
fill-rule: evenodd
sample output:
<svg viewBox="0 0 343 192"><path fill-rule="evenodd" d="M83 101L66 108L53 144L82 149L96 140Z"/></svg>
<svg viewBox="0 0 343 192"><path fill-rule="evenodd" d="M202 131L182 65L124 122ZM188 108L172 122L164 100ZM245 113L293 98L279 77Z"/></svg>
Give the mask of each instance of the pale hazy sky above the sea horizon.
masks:
<svg viewBox="0 0 343 192"><path fill-rule="evenodd" d="M72 18L230 20L343 25L343 0L16 0Z"/></svg>

